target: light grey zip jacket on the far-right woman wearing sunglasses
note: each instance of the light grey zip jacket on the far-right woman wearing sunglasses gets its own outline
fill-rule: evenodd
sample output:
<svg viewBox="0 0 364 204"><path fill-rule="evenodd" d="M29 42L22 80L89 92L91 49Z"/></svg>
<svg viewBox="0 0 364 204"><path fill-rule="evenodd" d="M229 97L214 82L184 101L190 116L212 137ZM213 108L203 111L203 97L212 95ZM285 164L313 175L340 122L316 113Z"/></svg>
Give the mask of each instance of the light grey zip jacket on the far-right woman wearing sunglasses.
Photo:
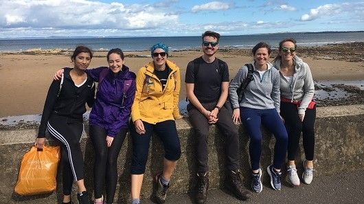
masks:
<svg viewBox="0 0 364 204"><path fill-rule="evenodd" d="M308 104L315 94L315 87L312 80L310 67L301 58L295 56L293 58L295 65L295 73L293 73L292 84L288 84L286 78L280 72L281 95L289 100L301 102L298 107L298 114L304 114ZM277 59L273 62L273 66L280 71L281 60Z"/></svg>

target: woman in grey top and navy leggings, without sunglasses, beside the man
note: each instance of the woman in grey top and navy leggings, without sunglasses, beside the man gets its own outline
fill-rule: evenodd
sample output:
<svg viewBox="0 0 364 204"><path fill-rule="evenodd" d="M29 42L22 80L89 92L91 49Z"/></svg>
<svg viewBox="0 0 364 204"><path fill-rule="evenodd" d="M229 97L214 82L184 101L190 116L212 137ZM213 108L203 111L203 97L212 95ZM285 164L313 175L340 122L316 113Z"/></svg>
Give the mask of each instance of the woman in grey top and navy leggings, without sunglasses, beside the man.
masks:
<svg viewBox="0 0 364 204"><path fill-rule="evenodd" d="M287 131L280 118L280 73L269 63L271 47L258 43L253 47L253 80L244 89L242 100L238 100L236 90L247 79L247 66L242 67L229 86L231 105L234 108L233 120L240 120L250 136L249 155L252 170L251 188L253 192L262 192L262 170L260 155L262 152L262 131L264 125L275 136L273 164L266 169L271 177L274 190L281 189L281 166L287 150Z"/></svg>

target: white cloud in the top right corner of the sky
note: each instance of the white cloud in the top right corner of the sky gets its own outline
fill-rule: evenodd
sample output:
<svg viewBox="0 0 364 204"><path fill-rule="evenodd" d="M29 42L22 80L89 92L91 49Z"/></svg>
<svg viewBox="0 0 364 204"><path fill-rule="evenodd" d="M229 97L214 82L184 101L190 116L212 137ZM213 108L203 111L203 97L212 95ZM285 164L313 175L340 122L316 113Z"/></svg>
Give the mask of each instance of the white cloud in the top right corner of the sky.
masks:
<svg viewBox="0 0 364 204"><path fill-rule="evenodd" d="M317 8L310 9L310 13L303 14L301 21L313 21L324 16L333 17L343 14L357 14L359 18L364 17L364 2L325 4Z"/></svg>

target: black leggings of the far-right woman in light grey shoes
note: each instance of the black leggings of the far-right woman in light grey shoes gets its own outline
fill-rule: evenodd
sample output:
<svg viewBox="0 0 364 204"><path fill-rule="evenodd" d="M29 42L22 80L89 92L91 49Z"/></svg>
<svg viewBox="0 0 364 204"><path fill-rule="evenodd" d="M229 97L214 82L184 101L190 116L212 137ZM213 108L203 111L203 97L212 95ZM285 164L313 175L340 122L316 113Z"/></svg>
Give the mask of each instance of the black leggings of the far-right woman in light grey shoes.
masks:
<svg viewBox="0 0 364 204"><path fill-rule="evenodd" d="M299 137L302 133L304 152L307 160L312 161L315 150L315 119L314 109L306 109L304 122L301 122L297 112L297 106L289 102L281 102L281 113L284 118L284 126L288 133L288 160L294 161L299 146Z"/></svg>

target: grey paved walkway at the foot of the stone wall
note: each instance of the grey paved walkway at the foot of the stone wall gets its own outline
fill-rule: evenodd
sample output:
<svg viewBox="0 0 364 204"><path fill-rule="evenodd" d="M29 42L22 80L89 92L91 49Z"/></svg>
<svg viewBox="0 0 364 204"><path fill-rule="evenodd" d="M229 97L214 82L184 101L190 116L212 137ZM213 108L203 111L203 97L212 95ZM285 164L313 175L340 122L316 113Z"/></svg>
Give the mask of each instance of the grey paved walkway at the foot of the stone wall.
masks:
<svg viewBox="0 0 364 204"><path fill-rule="evenodd" d="M141 203L152 203L150 199ZM193 194L168 196L166 203L190 204ZM281 191L272 190L269 183L263 184L260 194L251 194L249 201L239 201L225 190L209 190L207 203L364 203L364 171L330 177L314 177L310 185L302 183L291 188L284 183Z"/></svg>

